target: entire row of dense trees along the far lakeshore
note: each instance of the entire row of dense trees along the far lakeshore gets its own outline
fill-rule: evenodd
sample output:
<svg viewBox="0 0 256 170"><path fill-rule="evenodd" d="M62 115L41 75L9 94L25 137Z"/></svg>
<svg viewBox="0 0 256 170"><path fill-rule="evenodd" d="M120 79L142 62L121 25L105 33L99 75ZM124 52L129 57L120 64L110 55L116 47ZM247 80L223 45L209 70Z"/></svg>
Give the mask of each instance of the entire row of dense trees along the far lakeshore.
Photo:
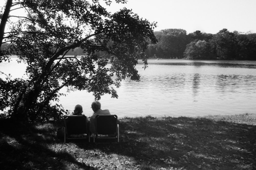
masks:
<svg viewBox="0 0 256 170"><path fill-rule="evenodd" d="M158 43L150 45L146 55L153 58L256 60L256 33L229 32L216 34L183 29L154 32Z"/></svg>

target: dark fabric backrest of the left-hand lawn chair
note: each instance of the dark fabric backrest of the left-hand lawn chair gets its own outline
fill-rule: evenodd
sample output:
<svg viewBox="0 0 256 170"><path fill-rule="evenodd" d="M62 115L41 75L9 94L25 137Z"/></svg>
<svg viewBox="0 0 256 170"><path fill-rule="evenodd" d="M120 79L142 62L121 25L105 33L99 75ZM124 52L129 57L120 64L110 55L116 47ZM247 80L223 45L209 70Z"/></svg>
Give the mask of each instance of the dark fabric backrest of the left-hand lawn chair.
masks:
<svg viewBox="0 0 256 170"><path fill-rule="evenodd" d="M69 135L87 134L87 122L85 115L65 115L64 124Z"/></svg>

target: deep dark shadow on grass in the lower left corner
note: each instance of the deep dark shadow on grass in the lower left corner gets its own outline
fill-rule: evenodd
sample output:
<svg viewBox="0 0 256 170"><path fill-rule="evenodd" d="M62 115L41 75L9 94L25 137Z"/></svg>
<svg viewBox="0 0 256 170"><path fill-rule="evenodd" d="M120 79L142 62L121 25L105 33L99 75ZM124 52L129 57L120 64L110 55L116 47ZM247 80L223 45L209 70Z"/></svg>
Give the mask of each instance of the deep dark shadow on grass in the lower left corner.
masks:
<svg viewBox="0 0 256 170"><path fill-rule="evenodd" d="M90 169L56 141L52 124L31 126L1 120L0 129L1 169Z"/></svg>

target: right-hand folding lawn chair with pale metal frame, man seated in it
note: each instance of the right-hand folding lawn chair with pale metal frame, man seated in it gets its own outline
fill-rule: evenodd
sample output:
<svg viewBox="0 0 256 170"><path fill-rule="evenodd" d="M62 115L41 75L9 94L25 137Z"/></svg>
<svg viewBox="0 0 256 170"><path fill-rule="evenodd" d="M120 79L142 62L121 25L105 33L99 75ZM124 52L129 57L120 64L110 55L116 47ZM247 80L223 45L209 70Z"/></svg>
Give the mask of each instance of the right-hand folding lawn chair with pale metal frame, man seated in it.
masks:
<svg viewBox="0 0 256 170"><path fill-rule="evenodd" d="M99 137L98 135L108 135ZM113 135L113 137L112 137ZM113 138L119 142L119 124L117 124L117 115L99 114L95 117L95 133L93 134L93 142L95 138Z"/></svg>

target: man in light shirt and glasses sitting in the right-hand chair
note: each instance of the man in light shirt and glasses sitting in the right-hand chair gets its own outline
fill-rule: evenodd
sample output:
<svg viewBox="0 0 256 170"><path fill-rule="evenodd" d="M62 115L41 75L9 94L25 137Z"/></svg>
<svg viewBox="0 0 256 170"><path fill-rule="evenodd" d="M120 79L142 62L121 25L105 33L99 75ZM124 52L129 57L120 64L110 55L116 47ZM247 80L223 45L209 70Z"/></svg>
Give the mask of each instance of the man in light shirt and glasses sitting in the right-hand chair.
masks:
<svg viewBox="0 0 256 170"><path fill-rule="evenodd" d="M99 101L92 102L92 110L93 115L90 118L90 131L91 133L95 133L95 117L98 114L110 114L108 109L101 110L101 104Z"/></svg>

